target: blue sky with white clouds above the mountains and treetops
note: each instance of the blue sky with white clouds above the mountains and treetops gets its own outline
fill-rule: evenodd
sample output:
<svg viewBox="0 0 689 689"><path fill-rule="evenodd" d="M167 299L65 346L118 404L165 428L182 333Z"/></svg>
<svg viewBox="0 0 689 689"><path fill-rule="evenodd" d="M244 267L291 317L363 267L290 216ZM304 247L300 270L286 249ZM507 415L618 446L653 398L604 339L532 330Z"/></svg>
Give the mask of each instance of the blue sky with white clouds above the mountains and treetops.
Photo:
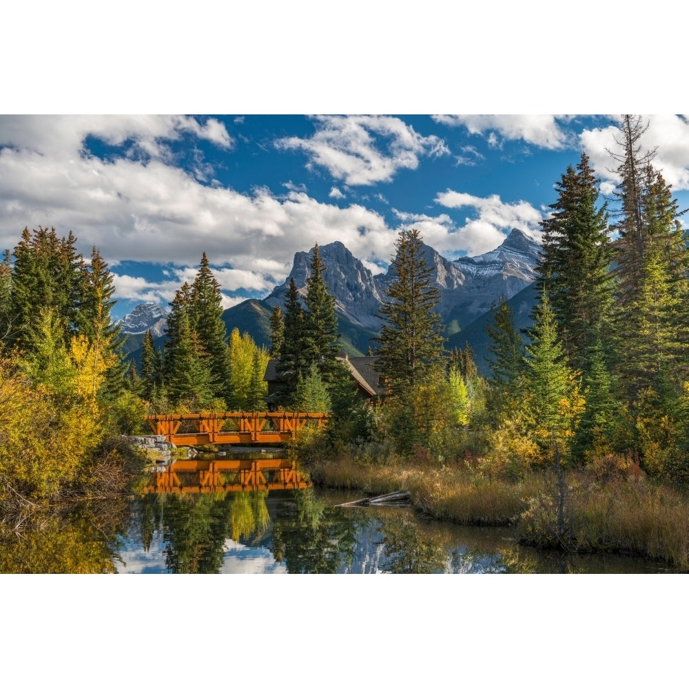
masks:
<svg viewBox="0 0 689 689"><path fill-rule="evenodd" d="M646 116L644 145L689 205L689 119ZM610 194L615 116L0 116L0 248L72 230L115 275L117 317L167 306L203 251L225 306L262 297L296 251L340 240L374 272L400 229L447 258L512 227L537 238L585 150Z"/></svg>

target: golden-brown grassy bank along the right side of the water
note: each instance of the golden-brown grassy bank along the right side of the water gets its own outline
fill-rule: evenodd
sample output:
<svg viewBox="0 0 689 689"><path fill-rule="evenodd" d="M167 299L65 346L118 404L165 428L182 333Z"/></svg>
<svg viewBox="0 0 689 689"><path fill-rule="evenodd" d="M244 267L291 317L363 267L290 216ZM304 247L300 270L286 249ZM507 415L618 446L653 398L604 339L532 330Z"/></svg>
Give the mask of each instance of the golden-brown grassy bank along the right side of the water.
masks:
<svg viewBox="0 0 689 689"><path fill-rule="evenodd" d="M689 499L644 477L601 482L571 471L565 477L564 533L557 528L554 473L509 481L467 466L361 464L351 457L312 462L311 478L367 495L409 491L426 515L460 524L515 524L520 541L542 548L630 553L689 571Z"/></svg>

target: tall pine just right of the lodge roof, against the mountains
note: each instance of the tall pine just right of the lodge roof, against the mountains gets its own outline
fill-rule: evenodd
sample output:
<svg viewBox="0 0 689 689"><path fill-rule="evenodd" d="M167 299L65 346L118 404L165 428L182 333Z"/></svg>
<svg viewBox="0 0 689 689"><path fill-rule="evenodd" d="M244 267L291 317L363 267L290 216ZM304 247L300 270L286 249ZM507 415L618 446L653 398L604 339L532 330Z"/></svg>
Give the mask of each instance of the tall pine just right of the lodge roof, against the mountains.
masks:
<svg viewBox="0 0 689 689"><path fill-rule="evenodd" d="M393 391L432 376L442 361L444 345L444 328L435 311L439 292L431 285L431 268L424 260L418 230L400 232L395 247L395 279L386 291L389 301L378 311L383 325L376 338L376 366Z"/></svg>

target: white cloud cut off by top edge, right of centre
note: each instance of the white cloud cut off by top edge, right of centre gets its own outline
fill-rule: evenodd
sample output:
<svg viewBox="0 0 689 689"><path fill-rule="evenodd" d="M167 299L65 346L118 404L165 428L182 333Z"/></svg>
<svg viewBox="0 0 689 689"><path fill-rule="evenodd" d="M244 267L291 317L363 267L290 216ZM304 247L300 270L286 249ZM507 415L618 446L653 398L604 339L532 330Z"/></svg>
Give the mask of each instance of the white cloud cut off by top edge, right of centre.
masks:
<svg viewBox="0 0 689 689"><path fill-rule="evenodd" d="M433 115L433 120L449 127L466 127L471 134L481 134L491 147L500 147L503 139L524 139L542 148L561 149L570 142L568 132L560 127L558 115Z"/></svg>

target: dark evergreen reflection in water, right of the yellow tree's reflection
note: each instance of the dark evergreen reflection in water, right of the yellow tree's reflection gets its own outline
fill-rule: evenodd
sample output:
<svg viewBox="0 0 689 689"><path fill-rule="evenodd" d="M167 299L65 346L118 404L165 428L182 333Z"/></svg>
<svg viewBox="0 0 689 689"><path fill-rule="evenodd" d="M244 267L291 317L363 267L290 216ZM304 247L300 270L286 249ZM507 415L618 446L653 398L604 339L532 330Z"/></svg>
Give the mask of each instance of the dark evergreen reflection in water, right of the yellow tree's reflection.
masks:
<svg viewBox="0 0 689 689"><path fill-rule="evenodd" d="M298 491L274 517L271 551L289 573L333 574L349 567L363 511L327 507L312 490Z"/></svg>

